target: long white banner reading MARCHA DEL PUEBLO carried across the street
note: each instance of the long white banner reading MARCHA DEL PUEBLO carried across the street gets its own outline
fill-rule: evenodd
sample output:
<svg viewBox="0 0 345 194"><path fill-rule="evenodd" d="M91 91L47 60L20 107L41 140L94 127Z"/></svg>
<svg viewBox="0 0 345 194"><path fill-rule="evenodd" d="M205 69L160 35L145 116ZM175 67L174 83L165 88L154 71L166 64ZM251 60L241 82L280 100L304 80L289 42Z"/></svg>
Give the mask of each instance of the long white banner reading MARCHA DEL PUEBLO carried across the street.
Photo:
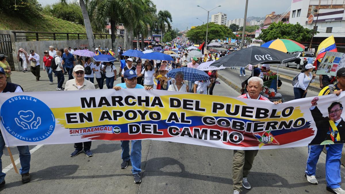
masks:
<svg viewBox="0 0 345 194"><path fill-rule="evenodd" d="M344 96L321 96L312 106L312 97L275 105L144 89L2 93L0 127L7 146L130 139L226 149L333 144L345 142L345 122L331 122L341 118Z"/></svg>

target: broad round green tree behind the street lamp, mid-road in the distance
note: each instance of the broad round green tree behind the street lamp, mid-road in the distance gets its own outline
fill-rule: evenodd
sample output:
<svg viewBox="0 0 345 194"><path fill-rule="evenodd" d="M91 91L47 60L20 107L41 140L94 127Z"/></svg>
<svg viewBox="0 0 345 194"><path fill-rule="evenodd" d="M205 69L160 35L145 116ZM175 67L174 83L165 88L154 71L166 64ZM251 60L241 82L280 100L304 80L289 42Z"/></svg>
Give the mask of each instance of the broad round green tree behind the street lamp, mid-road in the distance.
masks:
<svg viewBox="0 0 345 194"><path fill-rule="evenodd" d="M204 24L190 29L186 36L191 40L199 40L200 42L203 42L206 40L206 27L206 24ZM207 44L215 39L226 38L235 38L234 33L228 27L225 25L218 25L213 22L208 23Z"/></svg>

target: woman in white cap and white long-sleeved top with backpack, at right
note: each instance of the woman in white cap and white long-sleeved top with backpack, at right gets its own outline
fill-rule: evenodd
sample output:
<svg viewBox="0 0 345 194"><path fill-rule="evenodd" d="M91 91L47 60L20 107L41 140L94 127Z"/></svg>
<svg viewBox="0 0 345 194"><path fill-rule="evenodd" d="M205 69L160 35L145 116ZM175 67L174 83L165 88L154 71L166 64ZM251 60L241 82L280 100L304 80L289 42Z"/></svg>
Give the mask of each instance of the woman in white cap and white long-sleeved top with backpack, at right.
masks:
<svg viewBox="0 0 345 194"><path fill-rule="evenodd" d="M307 87L309 83L314 82L316 76L316 74L312 74L313 68L315 66L307 64L298 75L298 82L294 85L295 99L305 98L307 95Z"/></svg>

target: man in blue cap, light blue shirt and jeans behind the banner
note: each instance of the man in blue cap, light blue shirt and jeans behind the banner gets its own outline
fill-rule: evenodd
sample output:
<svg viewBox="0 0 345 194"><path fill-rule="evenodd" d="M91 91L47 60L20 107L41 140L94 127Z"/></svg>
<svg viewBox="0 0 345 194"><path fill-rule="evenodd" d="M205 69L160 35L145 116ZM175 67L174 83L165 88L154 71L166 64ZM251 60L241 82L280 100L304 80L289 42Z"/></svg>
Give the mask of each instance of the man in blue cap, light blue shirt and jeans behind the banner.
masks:
<svg viewBox="0 0 345 194"><path fill-rule="evenodd" d="M117 84L114 86L116 91L120 90L121 88L138 88L146 90L152 89L152 87L142 86L137 84L137 74L134 70L128 69L124 72L124 80L125 83ZM135 183L141 183L141 176L140 176L140 166L141 166L141 140L131 140L132 143L132 151L129 154L129 140L122 140L121 141L121 168L125 169L128 167L129 161L132 163L132 173L134 177Z"/></svg>

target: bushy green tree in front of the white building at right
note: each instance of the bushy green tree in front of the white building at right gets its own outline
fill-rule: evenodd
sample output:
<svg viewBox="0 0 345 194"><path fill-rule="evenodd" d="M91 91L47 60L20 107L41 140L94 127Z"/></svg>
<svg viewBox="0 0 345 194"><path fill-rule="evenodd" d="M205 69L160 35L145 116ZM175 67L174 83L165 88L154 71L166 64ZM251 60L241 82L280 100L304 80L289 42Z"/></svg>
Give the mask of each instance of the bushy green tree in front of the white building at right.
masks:
<svg viewBox="0 0 345 194"><path fill-rule="evenodd" d="M299 23L271 23L268 28L263 29L261 34L256 39L261 39L265 42L280 39L291 39L296 42L308 42L313 36L313 30L304 28Z"/></svg>

